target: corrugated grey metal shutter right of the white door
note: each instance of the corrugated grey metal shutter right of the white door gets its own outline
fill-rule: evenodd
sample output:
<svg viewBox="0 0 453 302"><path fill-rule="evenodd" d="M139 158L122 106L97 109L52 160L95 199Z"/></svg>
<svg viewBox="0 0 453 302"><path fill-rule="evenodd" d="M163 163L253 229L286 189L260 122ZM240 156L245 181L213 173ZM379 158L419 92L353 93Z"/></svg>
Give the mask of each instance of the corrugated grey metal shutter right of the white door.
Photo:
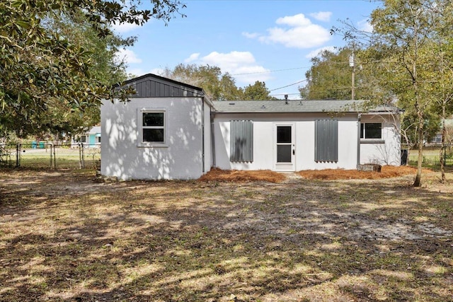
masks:
<svg viewBox="0 0 453 302"><path fill-rule="evenodd" d="M315 120L315 161L338 161L338 120Z"/></svg>

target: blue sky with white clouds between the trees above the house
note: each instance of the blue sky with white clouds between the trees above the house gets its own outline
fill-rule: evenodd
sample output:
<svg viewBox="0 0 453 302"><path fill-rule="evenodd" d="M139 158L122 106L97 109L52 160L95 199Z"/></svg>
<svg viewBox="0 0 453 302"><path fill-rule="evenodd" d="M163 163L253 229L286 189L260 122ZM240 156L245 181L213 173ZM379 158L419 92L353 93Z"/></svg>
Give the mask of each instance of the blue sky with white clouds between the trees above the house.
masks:
<svg viewBox="0 0 453 302"><path fill-rule="evenodd" d="M149 6L144 0L144 7ZM272 95L299 98L311 57L345 45L331 35L349 21L367 29L378 3L364 0L183 0L187 6L167 26L153 20L142 27L116 25L123 36L138 37L118 56L136 76L159 74L180 63L210 64L229 72L236 86L265 81Z"/></svg>

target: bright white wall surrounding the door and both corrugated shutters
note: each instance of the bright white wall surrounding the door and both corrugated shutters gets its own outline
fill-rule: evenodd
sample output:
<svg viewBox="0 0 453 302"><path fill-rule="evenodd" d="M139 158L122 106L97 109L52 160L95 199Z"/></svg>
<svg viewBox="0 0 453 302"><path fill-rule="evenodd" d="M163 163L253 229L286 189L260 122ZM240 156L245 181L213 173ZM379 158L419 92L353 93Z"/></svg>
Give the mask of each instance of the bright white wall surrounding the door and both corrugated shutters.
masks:
<svg viewBox="0 0 453 302"><path fill-rule="evenodd" d="M326 114L217 114L214 117L215 165L225 170L278 170L275 165L275 126L294 125L295 156L294 170L319 170L326 168L355 169L357 167L357 115L335 117L338 120L338 162L316 163L314 161L315 122L330 118ZM230 121L253 121L253 162L231 163Z"/></svg>

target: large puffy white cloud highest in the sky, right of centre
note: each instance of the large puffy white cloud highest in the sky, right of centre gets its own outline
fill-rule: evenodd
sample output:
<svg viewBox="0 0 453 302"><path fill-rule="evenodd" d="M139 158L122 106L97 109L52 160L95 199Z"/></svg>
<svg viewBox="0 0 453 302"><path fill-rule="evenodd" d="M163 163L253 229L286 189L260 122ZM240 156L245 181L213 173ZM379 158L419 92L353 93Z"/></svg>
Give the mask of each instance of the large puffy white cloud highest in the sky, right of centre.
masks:
<svg viewBox="0 0 453 302"><path fill-rule="evenodd" d="M275 23L282 26L269 28L268 35L260 35L258 40L302 49L319 47L331 40L331 34L326 28L311 23L303 13L278 18Z"/></svg>

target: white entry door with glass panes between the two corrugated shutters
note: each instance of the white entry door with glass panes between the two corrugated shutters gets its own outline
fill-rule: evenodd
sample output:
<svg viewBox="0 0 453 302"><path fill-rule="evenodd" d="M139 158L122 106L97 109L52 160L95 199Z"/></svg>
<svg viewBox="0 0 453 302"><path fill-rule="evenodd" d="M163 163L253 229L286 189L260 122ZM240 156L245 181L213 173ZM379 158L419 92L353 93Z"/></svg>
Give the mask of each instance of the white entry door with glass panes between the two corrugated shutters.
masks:
<svg viewBox="0 0 453 302"><path fill-rule="evenodd" d="M295 171L296 170L296 143L294 123L275 124L275 170Z"/></svg>

